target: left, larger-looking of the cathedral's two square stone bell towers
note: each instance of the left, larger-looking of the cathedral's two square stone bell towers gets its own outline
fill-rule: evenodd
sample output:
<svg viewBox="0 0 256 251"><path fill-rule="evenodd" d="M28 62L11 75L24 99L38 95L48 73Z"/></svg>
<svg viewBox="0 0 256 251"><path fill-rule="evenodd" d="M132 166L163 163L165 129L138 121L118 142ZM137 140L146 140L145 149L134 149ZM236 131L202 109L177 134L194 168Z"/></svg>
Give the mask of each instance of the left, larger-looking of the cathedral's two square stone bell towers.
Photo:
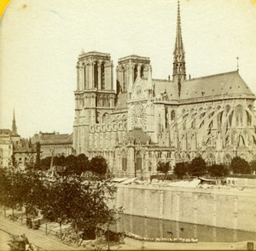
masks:
<svg viewBox="0 0 256 251"><path fill-rule="evenodd" d="M113 62L110 54L88 52L79 55L73 147L76 153L88 147L90 125L102 123L114 109Z"/></svg>

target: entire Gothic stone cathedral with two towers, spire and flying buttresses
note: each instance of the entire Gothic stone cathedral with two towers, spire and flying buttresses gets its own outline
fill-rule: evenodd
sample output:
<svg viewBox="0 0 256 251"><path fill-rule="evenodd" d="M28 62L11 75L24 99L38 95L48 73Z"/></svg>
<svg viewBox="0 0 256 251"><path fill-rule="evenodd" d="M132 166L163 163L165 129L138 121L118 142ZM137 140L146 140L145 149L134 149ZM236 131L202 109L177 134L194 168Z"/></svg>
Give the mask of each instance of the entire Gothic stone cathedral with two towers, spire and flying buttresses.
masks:
<svg viewBox="0 0 256 251"><path fill-rule="evenodd" d="M125 56L115 82L110 54L79 54L76 153L105 157L117 177L146 179L159 161L171 170L198 156L227 167L236 156L255 160L255 95L238 70L187 77L179 3L172 66L172 79L154 79L148 57Z"/></svg>

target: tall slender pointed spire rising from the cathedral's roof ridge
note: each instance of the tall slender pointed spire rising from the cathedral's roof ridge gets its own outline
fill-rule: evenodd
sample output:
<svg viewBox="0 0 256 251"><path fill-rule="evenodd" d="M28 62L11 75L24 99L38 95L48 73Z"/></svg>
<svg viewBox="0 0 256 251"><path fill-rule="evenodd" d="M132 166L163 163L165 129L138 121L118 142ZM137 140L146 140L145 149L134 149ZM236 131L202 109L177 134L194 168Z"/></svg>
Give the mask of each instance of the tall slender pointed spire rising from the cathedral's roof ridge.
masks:
<svg viewBox="0 0 256 251"><path fill-rule="evenodd" d="M179 0L177 0L177 33L176 43L173 51L173 81L177 81L178 94L180 94L181 83L186 79L185 50L183 48L183 37L181 30L181 18Z"/></svg>

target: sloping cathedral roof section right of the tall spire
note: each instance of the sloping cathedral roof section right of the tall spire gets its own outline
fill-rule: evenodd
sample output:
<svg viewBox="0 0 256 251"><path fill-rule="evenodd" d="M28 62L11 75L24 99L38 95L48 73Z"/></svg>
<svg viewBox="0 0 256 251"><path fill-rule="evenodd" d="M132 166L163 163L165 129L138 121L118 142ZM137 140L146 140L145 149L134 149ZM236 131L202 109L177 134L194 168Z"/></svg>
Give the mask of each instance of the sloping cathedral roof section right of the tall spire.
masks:
<svg viewBox="0 0 256 251"><path fill-rule="evenodd" d="M198 77L182 83L181 100L209 96L253 95L238 71Z"/></svg>

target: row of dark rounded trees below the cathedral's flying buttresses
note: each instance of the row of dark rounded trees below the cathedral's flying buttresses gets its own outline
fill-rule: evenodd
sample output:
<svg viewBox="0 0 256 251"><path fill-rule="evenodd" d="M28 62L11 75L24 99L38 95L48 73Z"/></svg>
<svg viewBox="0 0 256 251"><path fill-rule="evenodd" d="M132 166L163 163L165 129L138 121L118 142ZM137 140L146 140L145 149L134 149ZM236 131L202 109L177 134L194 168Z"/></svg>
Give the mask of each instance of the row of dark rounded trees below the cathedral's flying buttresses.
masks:
<svg viewBox="0 0 256 251"><path fill-rule="evenodd" d="M169 163L159 162L157 171L167 175L169 168ZM247 163L247 161L241 157L234 157L230 163L230 170L232 170L234 174L252 174L253 171L256 171L256 161ZM190 163L177 163L174 167L174 174L177 175L178 179L183 179L185 174L196 177L208 174L211 177L218 178L227 176L230 170L225 167L224 164L212 164L211 166L207 166L207 163L202 157L195 157Z"/></svg>

